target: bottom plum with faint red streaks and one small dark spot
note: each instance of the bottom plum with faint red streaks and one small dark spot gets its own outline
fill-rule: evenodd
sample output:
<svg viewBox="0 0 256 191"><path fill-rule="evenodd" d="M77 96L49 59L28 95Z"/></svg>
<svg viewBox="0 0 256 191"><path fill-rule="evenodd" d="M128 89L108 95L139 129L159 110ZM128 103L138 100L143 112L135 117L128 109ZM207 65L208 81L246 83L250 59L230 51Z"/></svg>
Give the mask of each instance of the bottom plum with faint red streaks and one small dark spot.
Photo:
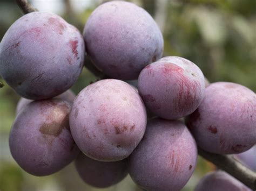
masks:
<svg viewBox="0 0 256 191"><path fill-rule="evenodd" d="M148 121L142 141L129 157L129 173L146 190L176 191L190 179L197 145L180 121Z"/></svg>

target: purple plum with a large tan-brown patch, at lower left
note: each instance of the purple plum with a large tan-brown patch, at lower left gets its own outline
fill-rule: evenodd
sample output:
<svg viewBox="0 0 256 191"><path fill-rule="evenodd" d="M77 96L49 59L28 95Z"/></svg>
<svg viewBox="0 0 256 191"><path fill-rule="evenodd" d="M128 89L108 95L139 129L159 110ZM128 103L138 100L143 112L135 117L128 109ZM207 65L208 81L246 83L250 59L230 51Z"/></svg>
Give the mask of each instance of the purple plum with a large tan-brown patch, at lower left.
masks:
<svg viewBox="0 0 256 191"><path fill-rule="evenodd" d="M25 105L9 135L12 157L24 171L45 176L74 160L79 149L69 129L71 104L52 99Z"/></svg>

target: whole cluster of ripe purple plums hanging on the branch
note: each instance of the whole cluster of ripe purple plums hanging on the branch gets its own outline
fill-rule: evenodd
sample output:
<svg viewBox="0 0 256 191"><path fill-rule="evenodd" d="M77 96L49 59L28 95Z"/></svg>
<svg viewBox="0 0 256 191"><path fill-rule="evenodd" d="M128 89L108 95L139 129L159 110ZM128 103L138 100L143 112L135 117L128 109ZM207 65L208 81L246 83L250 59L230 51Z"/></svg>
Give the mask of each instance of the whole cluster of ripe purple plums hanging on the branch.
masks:
<svg viewBox="0 0 256 191"><path fill-rule="evenodd" d="M75 160L79 175L92 186L111 186L129 173L146 190L180 190L196 166L197 146L217 154L253 147L255 93L231 82L206 88L193 62L161 58L163 45L149 13L127 2L100 5L83 36L53 13L19 18L0 47L0 73L23 97L9 137L18 165L44 176ZM75 96L69 88L85 52L111 79ZM138 89L122 81L134 79ZM197 190L226 179L231 182L223 183L226 188L248 189L215 172Z"/></svg>

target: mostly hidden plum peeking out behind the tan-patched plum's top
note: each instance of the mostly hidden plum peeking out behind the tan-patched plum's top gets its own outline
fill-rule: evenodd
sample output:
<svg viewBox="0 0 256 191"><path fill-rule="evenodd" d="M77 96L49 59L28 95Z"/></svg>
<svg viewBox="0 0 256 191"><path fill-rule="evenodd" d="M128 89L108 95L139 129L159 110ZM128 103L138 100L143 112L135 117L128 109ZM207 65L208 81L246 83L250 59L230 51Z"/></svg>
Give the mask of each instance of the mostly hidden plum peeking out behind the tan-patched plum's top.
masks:
<svg viewBox="0 0 256 191"><path fill-rule="evenodd" d="M76 95L71 90L67 90L64 93L56 96L55 98L73 103L73 101L76 98ZM28 99L23 98L23 97L21 99L19 99L19 102L18 102L17 108L16 108L16 114L18 114L18 112L21 111L22 108L25 107L25 105L29 104L32 101L33 100L28 100Z"/></svg>

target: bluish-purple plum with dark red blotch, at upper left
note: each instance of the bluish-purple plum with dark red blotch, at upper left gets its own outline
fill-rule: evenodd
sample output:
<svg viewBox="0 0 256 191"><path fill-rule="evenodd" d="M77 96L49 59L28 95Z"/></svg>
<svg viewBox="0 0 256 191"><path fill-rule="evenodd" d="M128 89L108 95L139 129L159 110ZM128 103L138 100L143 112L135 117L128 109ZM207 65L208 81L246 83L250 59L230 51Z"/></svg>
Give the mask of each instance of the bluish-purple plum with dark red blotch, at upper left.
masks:
<svg viewBox="0 0 256 191"><path fill-rule="evenodd" d="M5 33L0 48L0 73L22 97L43 100L68 90L83 68L84 40L61 17L32 12Z"/></svg>

